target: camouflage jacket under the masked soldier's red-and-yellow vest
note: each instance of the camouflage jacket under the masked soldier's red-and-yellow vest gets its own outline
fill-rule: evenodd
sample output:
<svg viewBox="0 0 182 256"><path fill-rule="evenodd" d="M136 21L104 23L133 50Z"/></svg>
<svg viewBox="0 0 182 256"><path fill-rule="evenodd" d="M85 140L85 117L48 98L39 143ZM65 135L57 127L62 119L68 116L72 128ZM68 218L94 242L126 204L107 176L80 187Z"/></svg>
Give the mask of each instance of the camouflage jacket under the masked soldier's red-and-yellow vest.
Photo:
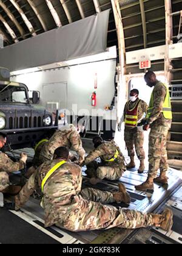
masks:
<svg viewBox="0 0 182 256"><path fill-rule="evenodd" d="M140 100L140 103L138 105L138 121L143 118L144 113L146 113L147 115L147 109L148 109L147 103L142 101L141 99L139 100ZM136 101L135 102L129 101L129 102L127 102L124 107L124 120L126 118L126 113L127 113L127 104L129 104L129 109L132 109L133 107L135 107L135 104L136 104ZM133 127L125 127L125 129L130 130L130 129L133 129Z"/></svg>

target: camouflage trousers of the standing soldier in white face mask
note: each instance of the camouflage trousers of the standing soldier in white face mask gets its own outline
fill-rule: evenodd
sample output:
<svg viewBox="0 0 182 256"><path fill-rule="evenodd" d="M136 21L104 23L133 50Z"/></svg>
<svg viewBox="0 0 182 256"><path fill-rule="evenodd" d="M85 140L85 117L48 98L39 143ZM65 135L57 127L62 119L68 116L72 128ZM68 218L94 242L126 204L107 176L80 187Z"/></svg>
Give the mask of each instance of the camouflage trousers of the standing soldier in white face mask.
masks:
<svg viewBox="0 0 182 256"><path fill-rule="evenodd" d="M137 128L129 129L129 130L125 129L124 140L126 143L129 157L134 157L135 150L136 150L136 155L138 159L140 160L145 159L145 152L143 149L143 144L144 144L143 132L140 132ZM135 150L134 150L134 146L135 146Z"/></svg>

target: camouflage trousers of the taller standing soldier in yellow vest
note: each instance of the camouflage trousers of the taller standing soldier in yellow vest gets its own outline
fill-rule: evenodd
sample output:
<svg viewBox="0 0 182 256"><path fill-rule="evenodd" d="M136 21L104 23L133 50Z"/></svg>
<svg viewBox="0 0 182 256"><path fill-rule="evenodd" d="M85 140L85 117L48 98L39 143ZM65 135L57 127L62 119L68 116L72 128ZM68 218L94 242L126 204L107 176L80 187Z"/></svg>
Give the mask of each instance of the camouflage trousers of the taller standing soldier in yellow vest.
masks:
<svg viewBox="0 0 182 256"><path fill-rule="evenodd" d="M167 172L167 135L169 128L165 126L152 126L149 135L149 175L155 179L158 169Z"/></svg>

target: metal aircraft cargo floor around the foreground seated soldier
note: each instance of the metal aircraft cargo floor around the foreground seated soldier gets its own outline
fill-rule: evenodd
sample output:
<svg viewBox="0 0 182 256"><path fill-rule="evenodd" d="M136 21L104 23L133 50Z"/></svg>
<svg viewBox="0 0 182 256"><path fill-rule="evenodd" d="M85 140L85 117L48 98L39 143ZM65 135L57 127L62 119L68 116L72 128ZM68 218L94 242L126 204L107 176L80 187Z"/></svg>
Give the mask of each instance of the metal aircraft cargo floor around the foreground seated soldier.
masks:
<svg viewBox="0 0 182 256"><path fill-rule="evenodd" d="M131 196L131 204L128 208L140 210L141 212L158 212L164 207L172 208L175 213L174 227L171 232L166 233L160 229L110 229L96 230L92 232L68 232L58 229L58 227L44 228L44 212L39 206L39 201L31 197L30 201L19 212L5 212L0 208L0 229L4 230L0 235L0 243L182 243L182 180L181 172L175 169L169 170L169 185L164 188L155 184L154 193L144 193L135 190L135 185L143 182L147 177L138 174L136 169L126 171L118 182L123 182ZM83 168L83 188L94 187L101 190L116 191L118 182L103 180L96 186L91 186L84 173ZM114 205L114 204L113 204ZM127 205L115 205L116 207L127 207ZM10 221L11 220L11 221ZM16 221L15 221L16 220ZM11 233L11 236L9 234ZM22 233L24 239L19 239ZM9 238L10 237L10 238Z"/></svg>

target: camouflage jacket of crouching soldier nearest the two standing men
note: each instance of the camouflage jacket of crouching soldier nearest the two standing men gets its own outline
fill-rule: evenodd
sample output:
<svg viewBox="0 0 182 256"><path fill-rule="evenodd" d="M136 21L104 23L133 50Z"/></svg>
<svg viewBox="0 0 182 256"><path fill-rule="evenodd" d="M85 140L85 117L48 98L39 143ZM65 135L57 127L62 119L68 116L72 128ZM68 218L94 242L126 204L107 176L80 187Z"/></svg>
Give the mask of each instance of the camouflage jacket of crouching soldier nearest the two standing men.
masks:
<svg viewBox="0 0 182 256"><path fill-rule="evenodd" d="M118 157L113 162L107 162L107 160L114 157L116 150L119 152ZM126 166L124 165L124 156L114 141L104 141L98 148L90 152L86 157L85 164L88 165L98 157L101 158L104 166L118 166L120 169L126 169Z"/></svg>

